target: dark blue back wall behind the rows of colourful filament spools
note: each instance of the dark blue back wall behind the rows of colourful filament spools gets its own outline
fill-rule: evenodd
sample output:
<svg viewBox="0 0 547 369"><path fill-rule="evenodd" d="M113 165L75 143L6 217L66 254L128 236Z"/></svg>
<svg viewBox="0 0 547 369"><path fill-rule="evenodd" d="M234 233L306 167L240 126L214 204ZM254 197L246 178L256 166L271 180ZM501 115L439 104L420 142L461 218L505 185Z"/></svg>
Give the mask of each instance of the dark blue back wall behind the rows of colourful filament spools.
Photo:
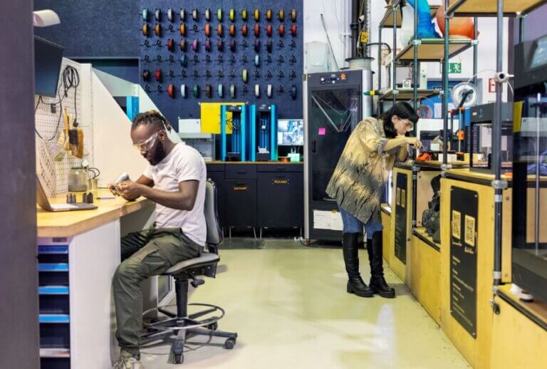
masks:
<svg viewBox="0 0 547 369"><path fill-rule="evenodd" d="M174 32L170 33L167 30L170 22L167 20L167 8L172 7L177 12L177 17L172 23L174 26ZM192 48L189 47L187 56L190 59L187 68L187 78L182 78L182 66L180 65L179 58L182 55L182 51L178 48L179 40L181 38L178 31L180 25L180 19L178 17L178 11L184 6L187 9L186 24L189 29L187 33L187 40L191 44L194 38L198 38L201 44L201 48L197 53L199 62L194 64L191 60L194 56ZM174 38L177 48L174 52L167 51L167 47L143 46L145 37L142 36L142 8L146 7L150 9L149 26L150 43L155 43L157 37L154 35L153 27L155 24L154 10L155 8L161 8L164 12L162 19L162 26L164 28L164 34L160 38L162 45L167 43L167 38ZM192 9L194 7L199 8L199 21L197 22L198 31L192 31L194 21L192 20ZM211 58L214 62L206 63L206 52L204 50L204 10L209 7L212 10L211 25L213 28L212 42L214 48L211 54ZM216 33L217 24L217 9L222 7L224 10L224 62L219 63L217 57L219 51L217 51L216 43L219 38ZM236 42L237 49L234 55L236 56L236 63L232 65L229 63L229 9L236 9ZM249 36L246 37L246 41L249 43L248 48L243 48L244 37L241 36L241 25L244 21L241 20L241 9L248 9L249 17L245 22L249 26ZM255 51L253 48L255 37L253 33L254 21L253 11L255 8L259 8L261 11L261 19L259 21L261 33L259 39L261 41L261 51L259 55L261 57L261 66L255 68L254 56ZM78 61L90 62L95 68L101 69L107 73L111 73L120 78L130 80L137 83L141 81L142 86L150 85L151 90L156 90L157 85L153 75L156 68L162 69L163 75L168 76L169 71L172 69L175 73L174 78L164 78L161 85L164 90L167 89L167 85L172 83L176 86L177 96L172 99L167 96L167 93L149 93L150 98L155 102L158 108L166 115L175 128L178 126L178 117L180 118L199 118L199 103L201 102L218 102L223 101L229 103L230 101L244 101L248 103L256 104L276 104L278 105L279 118L302 118L302 73L303 73L303 6L302 0L272 0L272 1L253 1L253 0L202 0L202 1L176 1L176 0L93 0L93 1L69 1L69 0L35 0L34 9L52 9L56 11L61 18L61 24L58 26L52 26L47 28L35 28L36 35L46 38L55 43L59 43L65 48L64 55L69 58L75 58ZM272 9L273 20L273 53L271 56L273 62L267 64L266 56L266 9ZM278 10L283 9L285 11L285 35L283 36L283 48L278 46L280 36L278 35ZM298 35L293 38L291 36L291 9L297 9L298 16L296 25L298 27ZM296 48L291 48L290 44L292 40L296 41ZM155 58L158 54L162 56L164 60L162 63L142 62L142 58L148 54L150 58ZM166 61L170 54L174 56L174 63ZM246 65L241 62L243 55L246 55L248 62ZM296 56L296 63L290 63L291 56ZM279 56L283 56L284 63L279 63L277 60ZM94 58L103 58L106 60L97 60ZM135 65L135 59L140 58L140 63ZM150 69L152 74L152 80L148 83L142 81L142 69ZM224 78L218 78L217 73L219 69L224 71ZM241 70L248 69L249 81L246 83L249 92L243 93L244 83L241 80ZM206 71L209 69L212 72L211 78L206 78ZM231 69L235 71L235 78L230 78L229 72ZM255 69L259 69L259 78L254 77ZM194 70L199 73L198 78L193 77ZM273 78L266 78L266 73L271 70ZM278 72L283 70L284 77L278 78ZM289 76L291 71L296 71L296 78L291 79ZM189 97L182 99L180 95L180 85L185 83L189 88ZM224 85L224 98L218 98L217 86L219 83ZM229 98L229 87L234 83L236 85L237 94L236 99ZM259 83L261 85L261 98L256 99L254 97L254 85ZM192 87L197 84L202 90L200 98L196 99L192 96ZM210 84L213 86L214 98L207 98L204 90L205 85ZM266 86L268 84L273 85L274 93L273 98L266 97ZM283 85L284 92L278 93L279 86ZM298 88L297 98L293 100L291 98L290 90L291 85L296 85Z"/></svg>

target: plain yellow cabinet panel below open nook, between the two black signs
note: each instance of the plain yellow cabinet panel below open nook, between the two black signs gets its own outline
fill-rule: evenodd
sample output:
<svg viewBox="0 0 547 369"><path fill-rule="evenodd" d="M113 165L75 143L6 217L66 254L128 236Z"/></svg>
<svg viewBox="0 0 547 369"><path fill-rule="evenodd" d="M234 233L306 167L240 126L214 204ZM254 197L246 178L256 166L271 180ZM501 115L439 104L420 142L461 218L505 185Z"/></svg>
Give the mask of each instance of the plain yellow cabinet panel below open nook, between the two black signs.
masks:
<svg viewBox="0 0 547 369"><path fill-rule="evenodd" d="M441 245L424 228L412 229L410 290L435 323L441 324Z"/></svg>

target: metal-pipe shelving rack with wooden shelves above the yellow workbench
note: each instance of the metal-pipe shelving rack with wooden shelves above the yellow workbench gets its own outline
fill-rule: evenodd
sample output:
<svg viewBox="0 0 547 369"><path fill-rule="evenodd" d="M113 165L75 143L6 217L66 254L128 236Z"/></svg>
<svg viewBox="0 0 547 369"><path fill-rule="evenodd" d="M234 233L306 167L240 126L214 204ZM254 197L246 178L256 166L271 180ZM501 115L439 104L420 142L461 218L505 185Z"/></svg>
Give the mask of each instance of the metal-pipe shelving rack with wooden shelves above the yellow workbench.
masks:
<svg viewBox="0 0 547 369"><path fill-rule="evenodd" d="M381 89L381 63L382 63L382 28L387 28L388 26L393 28L393 53L397 49L397 28L400 27L402 21L402 13L400 11L400 6L405 0L394 0L392 5L387 8L386 14L382 21L380 21L379 31L378 31L378 90ZM473 82L476 85L477 81L477 51L478 51L478 42L476 40L477 28L478 28L478 19L477 17L491 17L495 16L497 19L497 50L496 50L496 111L494 115L494 130L492 132L492 165L494 166L494 180L491 182L492 187L494 187L494 207L495 207L495 218L494 218L494 271L493 271L493 281L494 286L499 286L501 284L501 207L502 207L502 192L503 189L508 186L507 182L501 180L501 157L500 157L500 148L501 148L501 100L502 100L502 87L504 83L508 83L508 80L501 80L497 78L500 73L505 73L503 71L503 41L504 41L504 17L516 17L519 19L519 41L523 41L523 19L526 14L530 13L534 9L547 4L547 0L519 0L519 1L504 1L504 0L444 0L444 9L447 9L444 12L444 32L449 33L450 19L453 16L472 16L474 17L474 36L475 40L472 41L461 41L461 40L450 40L449 37L444 37L444 39L438 40L419 40L417 39L417 26L418 26L418 9L417 6L414 9L415 17L415 37L413 42L404 48L397 56L394 56L392 62L392 90L387 91L390 93L390 98L392 98L393 103L398 99L406 100L407 91L405 94L401 94L397 97L397 62L407 62L412 61L414 63L414 73L413 80L414 86L412 88L412 100L414 102L414 108L417 108L417 103L419 99L424 98L421 95L417 88L418 80L418 68L417 63L419 61L440 61L443 64L442 68L442 111L443 111L443 131L444 137L443 142L447 141L447 130L448 130L448 90L449 90L449 58L455 56L457 53L460 53L466 50L469 47L473 47ZM435 9L436 11L437 9ZM433 8L432 8L433 13ZM442 58L439 58L439 46L442 46L441 50L443 51ZM410 53L412 53L412 58L410 58ZM403 99L404 98L404 99ZM380 95L378 108L380 109L382 100L385 100L385 97L382 98ZM415 130L417 132L417 130ZM447 145L443 145L443 163L442 171L451 169L451 165L447 163ZM413 157L415 159L415 157ZM417 201L417 172L420 168L414 164L412 165L412 227L416 227L416 201Z"/></svg>

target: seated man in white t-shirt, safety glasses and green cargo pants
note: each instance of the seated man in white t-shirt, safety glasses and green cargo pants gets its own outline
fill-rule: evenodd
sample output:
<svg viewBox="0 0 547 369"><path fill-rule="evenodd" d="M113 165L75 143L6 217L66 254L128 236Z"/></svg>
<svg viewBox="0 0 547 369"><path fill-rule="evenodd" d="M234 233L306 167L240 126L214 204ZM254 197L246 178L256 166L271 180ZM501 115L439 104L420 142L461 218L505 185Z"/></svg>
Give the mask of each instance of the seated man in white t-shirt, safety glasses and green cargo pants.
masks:
<svg viewBox="0 0 547 369"><path fill-rule="evenodd" d="M131 138L150 165L137 182L127 181L110 191L127 200L146 197L156 203L155 225L122 239L122 263L113 279L120 344L116 369L142 369L141 283L174 264L199 256L205 244L204 217L207 169L199 152L167 137L171 126L156 111L133 120Z"/></svg>

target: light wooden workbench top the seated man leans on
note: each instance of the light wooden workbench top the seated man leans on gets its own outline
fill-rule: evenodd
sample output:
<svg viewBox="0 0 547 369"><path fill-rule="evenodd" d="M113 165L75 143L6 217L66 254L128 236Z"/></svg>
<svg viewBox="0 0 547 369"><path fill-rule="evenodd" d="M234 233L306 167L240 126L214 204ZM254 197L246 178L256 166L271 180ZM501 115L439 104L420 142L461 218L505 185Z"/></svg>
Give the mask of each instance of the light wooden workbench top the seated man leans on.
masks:
<svg viewBox="0 0 547 369"><path fill-rule="evenodd" d="M112 197L108 189L100 189L99 197ZM81 194L76 194L80 201ZM59 194L50 199L52 204L66 202L66 194ZM124 215L152 206L150 200L140 197L134 202L127 202L121 197L115 199L95 199L98 209L78 210L72 212L48 212L36 206L38 237L71 237L90 229L100 227Z"/></svg>

